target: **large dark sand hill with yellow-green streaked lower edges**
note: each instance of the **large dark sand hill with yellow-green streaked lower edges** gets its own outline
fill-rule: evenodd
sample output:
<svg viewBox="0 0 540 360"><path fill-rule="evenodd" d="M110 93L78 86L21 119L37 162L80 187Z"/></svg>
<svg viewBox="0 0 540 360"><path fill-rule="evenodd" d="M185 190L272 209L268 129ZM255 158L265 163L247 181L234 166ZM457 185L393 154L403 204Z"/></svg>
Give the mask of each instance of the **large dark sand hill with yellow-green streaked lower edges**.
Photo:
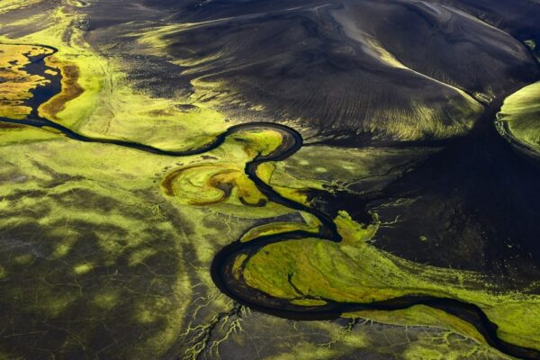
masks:
<svg viewBox="0 0 540 360"><path fill-rule="evenodd" d="M537 72L527 47L509 34L427 1L146 2L126 11L129 23L109 15L107 3L90 6L100 19L90 36L124 40L118 46L129 52L140 46L134 34L163 26L167 57L187 67L178 73L220 84L213 100L232 116L293 121L349 145L464 135L482 112L478 102ZM117 37L107 39L112 31ZM146 62L157 71L148 77L163 76L159 59ZM133 68L153 91L151 78ZM166 77L160 94L179 84L190 90L179 76Z"/></svg>

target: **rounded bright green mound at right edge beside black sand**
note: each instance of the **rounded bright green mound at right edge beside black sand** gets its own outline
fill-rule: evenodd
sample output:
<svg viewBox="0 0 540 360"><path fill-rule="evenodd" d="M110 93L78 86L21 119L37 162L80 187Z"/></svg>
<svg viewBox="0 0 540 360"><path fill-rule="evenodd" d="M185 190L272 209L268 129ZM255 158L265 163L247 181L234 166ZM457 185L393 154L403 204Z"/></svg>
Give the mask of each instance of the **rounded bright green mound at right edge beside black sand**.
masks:
<svg viewBox="0 0 540 360"><path fill-rule="evenodd" d="M506 98L497 114L500 131L540 156L540 82Z"/></svg>

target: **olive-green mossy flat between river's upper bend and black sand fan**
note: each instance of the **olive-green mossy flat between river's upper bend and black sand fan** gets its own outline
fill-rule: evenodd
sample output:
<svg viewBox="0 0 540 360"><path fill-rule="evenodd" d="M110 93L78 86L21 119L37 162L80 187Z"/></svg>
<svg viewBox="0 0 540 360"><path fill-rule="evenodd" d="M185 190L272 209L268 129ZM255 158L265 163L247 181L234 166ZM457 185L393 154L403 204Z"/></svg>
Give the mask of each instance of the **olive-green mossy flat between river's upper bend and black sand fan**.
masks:
<svg viewBox="0 0 540 360"><path fill-rule="evenodd" d="M335 148L302 147L284 161L265 163L266 178L275 191L305 202L308 189L327 191L376 191L401 175L437 148ZM264 167L263 167L264 168Z"/></svg>

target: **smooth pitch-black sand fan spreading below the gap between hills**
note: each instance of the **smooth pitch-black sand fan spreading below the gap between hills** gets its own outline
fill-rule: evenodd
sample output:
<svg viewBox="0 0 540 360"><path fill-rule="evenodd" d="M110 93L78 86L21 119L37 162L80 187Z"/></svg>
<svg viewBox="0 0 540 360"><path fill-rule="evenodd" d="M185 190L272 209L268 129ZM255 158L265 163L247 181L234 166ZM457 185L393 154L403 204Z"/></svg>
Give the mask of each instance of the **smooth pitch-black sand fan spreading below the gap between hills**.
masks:
<svg viewBox="0 0 540 360"><path fill-rule="evenodd" d="M365 223L377 213L389 225L374 245L395 255L524 290L540 279L540 163L487 121L383 189L311 197L329 213L346 209Z"/></svg>

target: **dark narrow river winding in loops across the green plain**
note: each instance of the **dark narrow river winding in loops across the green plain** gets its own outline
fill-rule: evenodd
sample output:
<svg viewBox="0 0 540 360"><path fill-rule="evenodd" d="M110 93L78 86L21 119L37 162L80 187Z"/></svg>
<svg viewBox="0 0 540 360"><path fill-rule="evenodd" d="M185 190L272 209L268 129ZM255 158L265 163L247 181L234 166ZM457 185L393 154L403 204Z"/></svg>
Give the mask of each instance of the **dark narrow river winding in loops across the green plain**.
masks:
<svg viewBox="0 0 540 360"><path fill-rule="evenodd" d="M49 47L49 49L54 48ZM58 51L57 49L54 50ZM53 51L52 54L54 54L56 51ZM43 58L46 58L52 54L48 54ZM212 280L222 293L227 294L231 299L257 311L263 311L278 317L293 320L330 320L339 318L344 312L361 310L397 311L408 309L415 305L427 305L438 310L446 311L447 313L454 315L461 320L469 322L482 334L486 342L491 347L494 347L505 354L523 359L540 359L539 350L527 347L518 347L500 339L497 336L497 325L489 320L480 307L472 303L461 302L452 298L439 298L426 295L408 295L382 302L346 303L327 300L328 304L324 306L298 306L289 302L284 302L281 299L274 298L266 293L257 291L256 289L249 288L246 284L236 280L232 273L232 264L234 257L240 251L247 251L249 254L254 254L258 249L268 244L302 238L320 238L333 242L339 242L341 240L341 236L338 234L336 224L328 214L324 213L323 211L310 208L300 202L294 202L293 200L285 198L279 193L276 193L271 185L266 184L257 176L257 167L259 165L268 161L284 160L285 158L293 155L298 149L302 148L302 136L300 133L285 125L272 122L242 123L229 127L228 130L220 133L213 140L200 148L192 148L187 150L163 150L126 140L86 137L85 135L81 135L76 131L70 130L54 121L49 121L37 116L21 121L0 118L0 121L27 125L36 128L52 128L54 130L58 130L61 134L67 136L67 138L76 139L78 141L112 144L125 148L134 148L157 155L175 157L202 154L210 151L213 148L218 148L229 135L240 130L261 128L278 130L284 134L284 141L282 144L271 154L266 156L259 155L252 161L248 162L245 167L245 173L248 178L256 184L257 189L266 195L269 201L283 204L284 206L297 211L306 211L315 216L318 220L320 220L320 231L318 234L314 234L303 230L293 230L281 234L253 238L248 242L241 242L238 239L226 247L222 247L220 251L213 257L211 263ZM258 302L255 302L254 299L257 299ZM261 300L264 300L264 302L261 302Z"/></svg>

